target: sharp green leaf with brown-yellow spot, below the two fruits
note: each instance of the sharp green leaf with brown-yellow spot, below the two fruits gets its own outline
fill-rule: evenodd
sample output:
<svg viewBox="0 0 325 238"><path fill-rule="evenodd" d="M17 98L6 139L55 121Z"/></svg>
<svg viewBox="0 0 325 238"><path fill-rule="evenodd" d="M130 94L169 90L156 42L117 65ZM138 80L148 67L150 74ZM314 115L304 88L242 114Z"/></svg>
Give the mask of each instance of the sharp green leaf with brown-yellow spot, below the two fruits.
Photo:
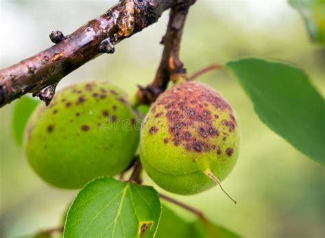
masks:
<svg viewBox="0 0 325 238"><path fill-rule="evenodd" d="M97 178L69 209L64 237L153 237L160 219L154 188L114 178Z"/></svg>

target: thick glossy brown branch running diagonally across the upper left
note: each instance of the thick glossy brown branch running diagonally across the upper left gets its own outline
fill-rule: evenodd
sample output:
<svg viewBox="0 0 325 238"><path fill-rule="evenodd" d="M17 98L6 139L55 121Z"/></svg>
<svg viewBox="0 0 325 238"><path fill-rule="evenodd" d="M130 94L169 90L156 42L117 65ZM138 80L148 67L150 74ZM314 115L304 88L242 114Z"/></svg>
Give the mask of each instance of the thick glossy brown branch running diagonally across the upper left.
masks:
<svg viewBox="0 0 325 238"><path fill-rule="evenodd" d="M60 31L52 32L50 38L56 45L0 70L0 107L26 93L33 93L49 104L56 85L66 75L101 53L113 53L114 45L158 21L165 10L173 8L172 14L175 14L179 6L189 2L193 0L123 0L69 36L64 36ZM182 27L177 22L182 21L184 19L174 21L170 27L180 29ZM173 35L178 37L178 34ZM167 36L169 41L170 36ZM176 66L180 64L174 61ZM165 78L165 73L164 77L156 78ZM158 81L155 80L154 85L160 86Z"/></svg>

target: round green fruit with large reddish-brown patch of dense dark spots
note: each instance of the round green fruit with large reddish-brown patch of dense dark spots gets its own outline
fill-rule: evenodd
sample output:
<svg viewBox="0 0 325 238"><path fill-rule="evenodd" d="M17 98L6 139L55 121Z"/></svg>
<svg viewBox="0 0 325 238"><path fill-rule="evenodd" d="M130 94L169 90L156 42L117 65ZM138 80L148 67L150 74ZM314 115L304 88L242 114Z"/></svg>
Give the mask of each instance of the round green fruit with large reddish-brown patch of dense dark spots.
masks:
<svg viewBox="0 0 325 238"><path fill-rule="evenodd" d="M141 162L157 185L191 195L230 173L239 152L239 128L226 100L212 88L183 82L158 97L141 130Z"/></svg>

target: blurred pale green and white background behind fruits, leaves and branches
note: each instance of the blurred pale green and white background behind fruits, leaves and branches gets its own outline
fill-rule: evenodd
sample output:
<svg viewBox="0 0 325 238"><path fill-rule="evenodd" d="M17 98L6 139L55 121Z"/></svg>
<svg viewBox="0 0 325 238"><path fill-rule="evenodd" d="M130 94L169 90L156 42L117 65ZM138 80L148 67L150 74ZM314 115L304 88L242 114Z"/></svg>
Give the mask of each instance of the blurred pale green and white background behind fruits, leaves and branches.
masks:
<svg viewBox="0 0 325 238"><path fill-rule="evenodd" d="M49 47L51 30L69 34L114 3L0 1L0 67ZM158 43L167 20L165 12L158 23L117 45L113 56L89 62L62 80L59 88L85 80L110 80L134 94L136 84L145 85L154 78L163 49ZM286 1L197 1L182 40L182 60L188 71L245 56L297 64L324 97L325 50L310 42L303 20ZM214 71L200 81L228 99L241 123L239 161L224 181L238 204L217 187L199 195L173 196L243 237L325 237L324 167L263 125L230 74ZM49 187L34 174L12 136L13 108L14 103L0 109L0 237L58 226L77 193ZM145 181L153 185L149 178ZM185 219L193 219L175 209Z"/></svg>

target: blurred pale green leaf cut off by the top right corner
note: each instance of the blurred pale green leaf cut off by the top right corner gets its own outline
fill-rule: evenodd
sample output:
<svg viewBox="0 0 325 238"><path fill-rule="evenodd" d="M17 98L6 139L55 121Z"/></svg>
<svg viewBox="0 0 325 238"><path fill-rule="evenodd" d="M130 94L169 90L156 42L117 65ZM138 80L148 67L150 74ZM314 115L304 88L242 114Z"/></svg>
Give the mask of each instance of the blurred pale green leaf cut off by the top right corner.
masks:
<svg viewBox="0 0 325 238"><path fill-rule="evenodd" d="M289 0L304 21L311 39L316 43L325 44L325 1L324 0Z"/></svg>

